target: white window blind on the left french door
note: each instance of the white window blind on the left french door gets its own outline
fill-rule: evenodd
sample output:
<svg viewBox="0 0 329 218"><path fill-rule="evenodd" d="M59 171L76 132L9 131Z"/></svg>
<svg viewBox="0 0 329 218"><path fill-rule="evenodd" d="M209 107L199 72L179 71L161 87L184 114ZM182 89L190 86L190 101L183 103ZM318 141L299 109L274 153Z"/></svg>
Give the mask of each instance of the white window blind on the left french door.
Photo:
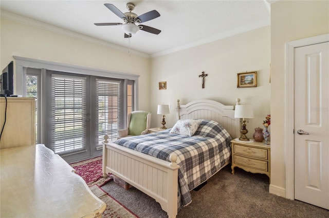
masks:
<svg viewBox="0 0 329 218"><path fill-rule="evenodd" d="M56 154L86 149L86 78L51 75L52 142Z"/></svg>

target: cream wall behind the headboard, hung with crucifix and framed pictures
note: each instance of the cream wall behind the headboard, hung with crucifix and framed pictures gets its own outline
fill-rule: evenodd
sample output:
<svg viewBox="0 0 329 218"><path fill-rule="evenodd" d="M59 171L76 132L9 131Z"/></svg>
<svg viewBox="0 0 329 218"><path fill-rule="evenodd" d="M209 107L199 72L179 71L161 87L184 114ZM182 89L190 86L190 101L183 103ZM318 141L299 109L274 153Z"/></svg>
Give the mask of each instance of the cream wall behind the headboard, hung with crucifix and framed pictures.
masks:
<svg viewBox="0 0 329 218"><path fill-rule="evenodd" d="M197 99L212 99L226 105L235 99L251 104L254 119L249 119L247 136L252 138L254 128L262 127L270 113L270 27L224 38L166 56L155 57L151 62L152 127L160 126L161 115L156 114L157 104L171 104L166 116L167 127L176 122L176 100L186 104ZM205 89L198 77L205 71ZM256 88L236 88L236 74L257 71ZM158 90L158 82L167 81L167 90Z"/></svg>

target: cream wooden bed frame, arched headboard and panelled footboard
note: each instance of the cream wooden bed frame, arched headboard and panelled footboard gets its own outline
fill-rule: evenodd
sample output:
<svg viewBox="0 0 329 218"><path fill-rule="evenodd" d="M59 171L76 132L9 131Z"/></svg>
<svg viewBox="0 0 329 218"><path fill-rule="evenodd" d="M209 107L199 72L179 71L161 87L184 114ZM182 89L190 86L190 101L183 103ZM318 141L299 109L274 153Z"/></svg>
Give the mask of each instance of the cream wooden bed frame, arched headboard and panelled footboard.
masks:
<svg viewBox="0 0 329 218"><path fill-rule="evenodd" d="M207 119L220 123L232 139L240 136L240 120L234 118L234 106L213 100L195 100L180 105L177 100L177 119ZM103 143L103 176L113 173L155 199L169 217L177 215L178 168L177 157L171 163L141 152L108 142ZM228 162L226 163L228 164Z"/></svg>

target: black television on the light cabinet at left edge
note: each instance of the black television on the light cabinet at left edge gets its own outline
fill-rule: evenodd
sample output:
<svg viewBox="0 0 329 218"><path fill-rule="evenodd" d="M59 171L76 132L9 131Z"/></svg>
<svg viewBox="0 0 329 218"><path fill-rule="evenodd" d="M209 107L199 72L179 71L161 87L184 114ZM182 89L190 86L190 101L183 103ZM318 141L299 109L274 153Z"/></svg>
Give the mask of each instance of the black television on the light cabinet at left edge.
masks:
<svg viewBox="0 0 329 218"><path fill-rule="evenodd" d="M0 86L1 96L9 97L14 94L14 61L10 61L8 66L2 71Z"/></svg>

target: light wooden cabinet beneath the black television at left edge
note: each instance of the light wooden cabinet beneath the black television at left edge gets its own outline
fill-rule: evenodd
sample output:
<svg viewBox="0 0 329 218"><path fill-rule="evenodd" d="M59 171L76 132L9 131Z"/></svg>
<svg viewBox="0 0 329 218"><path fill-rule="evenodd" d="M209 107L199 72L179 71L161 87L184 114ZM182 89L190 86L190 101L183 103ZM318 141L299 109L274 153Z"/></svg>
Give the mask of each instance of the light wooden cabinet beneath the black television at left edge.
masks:
<svg viewBox="0 0 329 218"><path fill-rule="evenodd" d="M0 131L6 124L0 141L0 148L35 144L35 98L0 97Z"/></svg>

